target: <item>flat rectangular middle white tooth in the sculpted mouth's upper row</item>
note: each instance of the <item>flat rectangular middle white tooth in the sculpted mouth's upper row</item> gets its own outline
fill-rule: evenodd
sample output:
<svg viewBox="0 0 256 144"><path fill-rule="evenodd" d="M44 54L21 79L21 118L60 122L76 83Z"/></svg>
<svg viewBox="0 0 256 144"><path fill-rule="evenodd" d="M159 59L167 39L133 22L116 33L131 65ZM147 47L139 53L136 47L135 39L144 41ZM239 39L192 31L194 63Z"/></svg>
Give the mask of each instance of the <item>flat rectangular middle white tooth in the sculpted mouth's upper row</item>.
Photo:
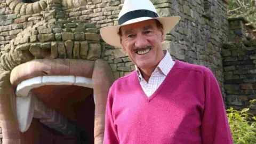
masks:
<svg viewBox="0 0 256 144"><path fill-rule="evenodd" d="M45 85L73 85L75 76L43 76L42 82Z"/></svg>

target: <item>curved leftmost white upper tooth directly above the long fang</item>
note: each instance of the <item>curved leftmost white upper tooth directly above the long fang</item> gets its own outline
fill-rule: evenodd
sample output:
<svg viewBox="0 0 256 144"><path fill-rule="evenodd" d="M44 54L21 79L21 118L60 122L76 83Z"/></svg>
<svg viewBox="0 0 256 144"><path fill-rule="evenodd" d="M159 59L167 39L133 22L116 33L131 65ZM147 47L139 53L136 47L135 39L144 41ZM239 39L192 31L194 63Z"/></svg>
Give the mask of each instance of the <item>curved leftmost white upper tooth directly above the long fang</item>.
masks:
<svg viewBox="0 0 256 144"><path fill-rule="evenodd" d="M43 85L44 84L42 83L42 76L27 79L19 83L16 89L16 95L19 97L27 97L31 89L40 87Z"/></svg>

